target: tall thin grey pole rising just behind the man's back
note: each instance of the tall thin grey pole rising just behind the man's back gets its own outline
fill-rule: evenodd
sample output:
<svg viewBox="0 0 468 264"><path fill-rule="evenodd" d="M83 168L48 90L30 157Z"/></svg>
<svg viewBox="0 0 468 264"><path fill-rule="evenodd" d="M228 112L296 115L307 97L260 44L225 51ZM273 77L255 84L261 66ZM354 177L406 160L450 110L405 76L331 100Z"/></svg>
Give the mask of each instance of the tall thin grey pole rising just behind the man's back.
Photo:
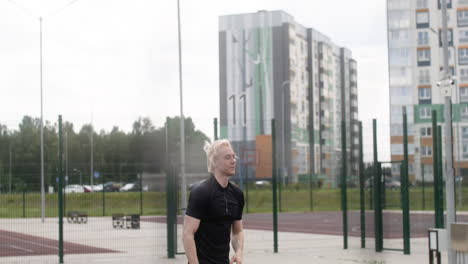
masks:
<svg viewBox="0 0 468 264"><path fill-rule="evenodd" d="M182 42L181 42L181 23L180 23L180 0L177 0L177 25L179 40L179 88L180 88L180 176L182 182L180 191L182 193L182 210L185 214L187 208L187 180L185 178L185 126L184 126L184 97L182 91Z"/></svg>

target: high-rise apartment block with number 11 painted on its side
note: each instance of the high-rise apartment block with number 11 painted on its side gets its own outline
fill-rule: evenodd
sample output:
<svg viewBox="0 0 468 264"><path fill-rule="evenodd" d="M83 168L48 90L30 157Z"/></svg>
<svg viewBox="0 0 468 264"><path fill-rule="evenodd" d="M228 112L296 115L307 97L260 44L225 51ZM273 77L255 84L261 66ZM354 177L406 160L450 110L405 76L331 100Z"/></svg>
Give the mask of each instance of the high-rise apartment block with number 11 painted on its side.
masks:
<svg viewBox="0 0 468 264"><path fill-rule="evenodd" d="M220 136L244 162L249 155L264 158L255 150L268 142L275 118L284 180L313 173L335 187L344 120L348 175L358 175L357 66L350 50L283 11L227 15L219 20L219 69ZM238 171L255 178L261 166Z"/></svg>

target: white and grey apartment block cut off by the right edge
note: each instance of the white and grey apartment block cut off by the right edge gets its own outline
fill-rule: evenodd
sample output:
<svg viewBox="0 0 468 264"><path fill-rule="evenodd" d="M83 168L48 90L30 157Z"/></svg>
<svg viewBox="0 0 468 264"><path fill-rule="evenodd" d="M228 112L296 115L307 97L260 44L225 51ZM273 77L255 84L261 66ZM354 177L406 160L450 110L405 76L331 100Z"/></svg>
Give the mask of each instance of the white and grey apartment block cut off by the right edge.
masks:
<svg viewBox="0 0 468 264"><path fill-rule="evenodd" d="M449 68L452 89L455 174L468 175L468 0L447 0ZM388 0L390 143L392 160L403 159L402 107L408 113L410 181L433 180L431 112L444 135L444 95L440 0ZM442 155L445 156L444 140ZM445 158L443 158L445 160ZM394 174L399 168L393 167Z"/></svg>

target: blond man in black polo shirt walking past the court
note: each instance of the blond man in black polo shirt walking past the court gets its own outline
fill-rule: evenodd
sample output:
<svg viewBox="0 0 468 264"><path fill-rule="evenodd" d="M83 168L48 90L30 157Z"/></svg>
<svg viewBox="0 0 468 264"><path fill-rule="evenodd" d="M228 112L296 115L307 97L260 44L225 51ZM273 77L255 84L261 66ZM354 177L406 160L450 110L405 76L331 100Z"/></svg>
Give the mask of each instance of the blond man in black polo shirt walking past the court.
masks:
<svg viewBox="0 0 468 264"><path fill-rule="evenodd" d="M211 176L190 192L183 241L189 264L242 264L244 195L229 182L236 172L236 155L228 140L204 147ZM229 242L235 251L229 261Z"/></svg>

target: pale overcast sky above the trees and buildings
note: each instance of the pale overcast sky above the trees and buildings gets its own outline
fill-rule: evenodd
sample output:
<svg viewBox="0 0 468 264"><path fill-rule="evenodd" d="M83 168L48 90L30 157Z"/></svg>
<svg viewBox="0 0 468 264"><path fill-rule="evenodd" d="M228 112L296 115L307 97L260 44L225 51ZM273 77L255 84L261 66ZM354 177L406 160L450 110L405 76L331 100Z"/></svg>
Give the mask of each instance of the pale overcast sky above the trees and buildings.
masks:
<svg viewBox="0 0 468 264"><path fill-rule="evenodd" d="M359 118L371 159L372 118L389 159L385 0L181 0L184 113L213 136L219 115L218 17L284 10L348 47L358 63ZM71 3L71 4L69 4ZM65 7L65 8L62 8ZM0 123L40 116L39 20L43 19L44 118L129 131L179 115L176 0L0 0Z"/></svg>

